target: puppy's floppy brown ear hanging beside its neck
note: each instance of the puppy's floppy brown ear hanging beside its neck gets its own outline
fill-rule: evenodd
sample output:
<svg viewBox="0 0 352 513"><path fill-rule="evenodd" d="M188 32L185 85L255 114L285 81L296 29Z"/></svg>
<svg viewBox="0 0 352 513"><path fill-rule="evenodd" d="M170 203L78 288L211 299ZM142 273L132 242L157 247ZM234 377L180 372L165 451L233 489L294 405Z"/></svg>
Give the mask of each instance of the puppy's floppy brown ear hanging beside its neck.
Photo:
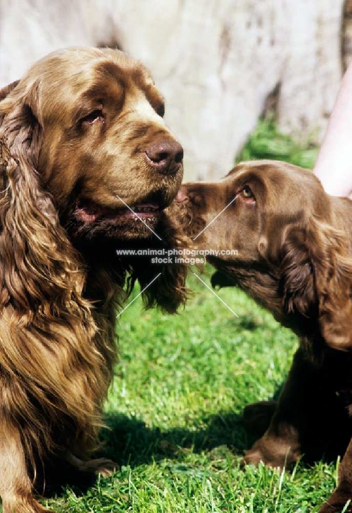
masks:
<svg viewBox="0 0 352 513"><path fill-rule="evenodd" d="M317 318L328 346L352 349L352 259L346 234L312 218L305 227L288 229L282 255L286 311Z"/></svg>

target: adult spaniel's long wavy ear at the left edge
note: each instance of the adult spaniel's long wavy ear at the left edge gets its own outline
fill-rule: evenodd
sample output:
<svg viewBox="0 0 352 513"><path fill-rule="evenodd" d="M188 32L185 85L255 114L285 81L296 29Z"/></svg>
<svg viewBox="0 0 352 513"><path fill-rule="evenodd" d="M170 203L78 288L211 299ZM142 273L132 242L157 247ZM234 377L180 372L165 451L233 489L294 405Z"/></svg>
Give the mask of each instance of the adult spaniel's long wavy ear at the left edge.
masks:
<svg viewBox="0 0 352 513"><path fill-rule="evenodd" d="M4 94L0 102L0 308L11 302L25 321L25 315L38 309L48 309L42 313L52 315L52 298L57 298L57 306L67 307L72 295L80 294L84 277L53 199L41 186L37 163L43 129L39 108L37 112L32 108L38 102L37 91L33 86L29 97L14 83Z"/></svg>

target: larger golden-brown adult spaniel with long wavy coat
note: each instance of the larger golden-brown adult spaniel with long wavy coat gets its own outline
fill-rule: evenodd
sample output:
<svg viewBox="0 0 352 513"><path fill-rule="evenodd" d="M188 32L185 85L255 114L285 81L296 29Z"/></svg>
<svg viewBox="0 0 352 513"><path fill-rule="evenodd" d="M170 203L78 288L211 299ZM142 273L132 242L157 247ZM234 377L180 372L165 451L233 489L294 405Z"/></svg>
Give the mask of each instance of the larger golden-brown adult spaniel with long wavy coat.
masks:
<svg viewBox="0 0 352 513"><path fill-rule="evenodd" d="M60 462L114 466L85 462L126 293L161 272L147 306L184 302L183 266L116 255L178 244L164 209L182 180L182 148L148 70L118 51L50 54L0 99L0 496L4 513L38 513L47 509L32 493Z"/></svg>

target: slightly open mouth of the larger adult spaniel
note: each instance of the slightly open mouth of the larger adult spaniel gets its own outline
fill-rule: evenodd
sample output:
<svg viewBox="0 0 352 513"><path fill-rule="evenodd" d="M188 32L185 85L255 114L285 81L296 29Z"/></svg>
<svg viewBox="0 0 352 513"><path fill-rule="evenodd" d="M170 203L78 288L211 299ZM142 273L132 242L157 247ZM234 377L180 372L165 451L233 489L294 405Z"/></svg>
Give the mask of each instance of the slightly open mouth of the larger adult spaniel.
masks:
<svg viewBox="0 0 352 513"><path fill-rule="evenodd" d="M76 217L85 223L93 223L99 219L119 221L122 219L141 218L154 221L159 216L160 205L154 202L140 203L130 208L111 209L101 207L92 201L79 200L76 206Z"/></svg>

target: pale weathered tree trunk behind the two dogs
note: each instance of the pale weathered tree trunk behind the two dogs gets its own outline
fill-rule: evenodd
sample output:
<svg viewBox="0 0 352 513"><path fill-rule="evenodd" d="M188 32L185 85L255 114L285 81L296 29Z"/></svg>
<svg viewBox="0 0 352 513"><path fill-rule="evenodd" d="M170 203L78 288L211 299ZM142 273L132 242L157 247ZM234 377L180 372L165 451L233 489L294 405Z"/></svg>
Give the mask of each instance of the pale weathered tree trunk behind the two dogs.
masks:
<svg viewBox="0 0 352 513"><path fill-rule="evenodd" d="M283 130L321 139L341 80L343 10L349 0L2 0L0 85L57 47L118 46L152 70L186 179L213 180L272 91Z"/></svg>

